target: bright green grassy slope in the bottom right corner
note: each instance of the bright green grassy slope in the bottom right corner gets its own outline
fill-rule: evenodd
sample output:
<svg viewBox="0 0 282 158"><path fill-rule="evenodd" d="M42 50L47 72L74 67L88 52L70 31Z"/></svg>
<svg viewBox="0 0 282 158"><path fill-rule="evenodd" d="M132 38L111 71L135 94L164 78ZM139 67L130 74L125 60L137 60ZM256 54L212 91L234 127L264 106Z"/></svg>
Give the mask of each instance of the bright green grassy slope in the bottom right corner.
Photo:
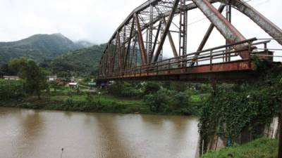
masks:
<svg viewBox="0 0 282 158"><path fill-rule="evenodd" d="M244 145L226 147L219 152L208 152L201 158L277 158L277 154L278 140L259 138Z"/></svg>

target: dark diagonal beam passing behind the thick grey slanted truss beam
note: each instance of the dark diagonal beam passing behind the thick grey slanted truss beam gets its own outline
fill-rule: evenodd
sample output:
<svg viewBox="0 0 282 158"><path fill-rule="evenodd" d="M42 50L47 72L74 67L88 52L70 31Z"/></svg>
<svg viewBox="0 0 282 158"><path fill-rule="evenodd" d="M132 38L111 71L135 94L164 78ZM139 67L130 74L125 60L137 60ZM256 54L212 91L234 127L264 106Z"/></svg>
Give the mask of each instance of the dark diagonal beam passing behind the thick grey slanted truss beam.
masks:
<svg viewBox="0 0 282 158"><path fill-rule="evenodd" d="M226 6L225 4L221 4L221 6L219 6L219 9L218 9L219 13L223 12L225 6ZM214 24L211 23L211 25L209 25L209 28L207 29L206 34L204 34L204 38L202 39L201 44L198 47L197 51L202 51L202 49L204 48L204 45L207 44L207 40L209 39L209 36L212 34L213 29L214 29ZM193 59L194 60L197 59L199 55L200 53L196 53ZM194 65L195 65L195 61L192 61L190 63L190 66L194 66Z"/></svg>

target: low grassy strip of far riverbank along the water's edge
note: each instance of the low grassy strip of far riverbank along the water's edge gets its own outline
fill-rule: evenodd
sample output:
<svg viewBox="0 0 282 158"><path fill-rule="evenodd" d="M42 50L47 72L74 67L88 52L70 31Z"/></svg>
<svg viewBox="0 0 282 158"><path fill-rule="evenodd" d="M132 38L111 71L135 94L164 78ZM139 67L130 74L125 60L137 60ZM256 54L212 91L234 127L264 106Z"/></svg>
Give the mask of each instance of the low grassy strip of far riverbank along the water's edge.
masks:
<svg viewBox="0 0 282 158"><path fill-rule="evenodd" d="M197 96L192 96L196 105L199 102ZM35 110L62 110L76 112L103 112L103 113L135 113L135 114L167 114L190 115L183 112L153 112L149 105L142 99L118 98L109 94L89 95L85 93L70 96L59 93L56 95L44 95L40 99L37 96L28 96L18 100L3 100L1 107L20 107ZM197 115L197 114L193 114Z"/></svg>

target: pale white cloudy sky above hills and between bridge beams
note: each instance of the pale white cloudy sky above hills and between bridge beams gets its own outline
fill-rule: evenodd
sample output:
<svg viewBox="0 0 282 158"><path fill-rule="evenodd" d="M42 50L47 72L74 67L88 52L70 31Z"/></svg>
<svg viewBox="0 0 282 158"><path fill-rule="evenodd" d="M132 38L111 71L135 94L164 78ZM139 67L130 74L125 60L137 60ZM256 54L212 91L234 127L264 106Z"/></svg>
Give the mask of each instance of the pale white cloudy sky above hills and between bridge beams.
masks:
<svg viewBox="0 0 282 158"><path fill-rule="evenodd" d="M0 41L16 41L32 34L61 34L73 41L88 40L106 43L118 25L134 8L146 0L1 0ZM281 0L251 0L248 2L266 18L282 28ZM188 12L188 50L199 45L209 20L200 11ZM203 19L203 20L202 20ZM255 23L233 10L233 25L246 37L269 37ZM207 47L224 44L214 31ZM281 48L276 42L271 48Z"/></svg>

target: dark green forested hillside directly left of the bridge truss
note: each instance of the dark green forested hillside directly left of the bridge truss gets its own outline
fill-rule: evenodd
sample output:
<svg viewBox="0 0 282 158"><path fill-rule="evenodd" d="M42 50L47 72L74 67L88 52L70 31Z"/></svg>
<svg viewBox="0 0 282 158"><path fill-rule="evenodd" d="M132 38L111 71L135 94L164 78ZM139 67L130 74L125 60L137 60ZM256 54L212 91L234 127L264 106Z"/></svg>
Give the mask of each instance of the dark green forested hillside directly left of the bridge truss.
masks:
<svg viewBox="0 0 282 158"><path fill-rule="evenodd" d="M96 74L105 44L69 51L51 61L50 67L56 74ZM67 75L67 74L66 74Z"/></svg>

